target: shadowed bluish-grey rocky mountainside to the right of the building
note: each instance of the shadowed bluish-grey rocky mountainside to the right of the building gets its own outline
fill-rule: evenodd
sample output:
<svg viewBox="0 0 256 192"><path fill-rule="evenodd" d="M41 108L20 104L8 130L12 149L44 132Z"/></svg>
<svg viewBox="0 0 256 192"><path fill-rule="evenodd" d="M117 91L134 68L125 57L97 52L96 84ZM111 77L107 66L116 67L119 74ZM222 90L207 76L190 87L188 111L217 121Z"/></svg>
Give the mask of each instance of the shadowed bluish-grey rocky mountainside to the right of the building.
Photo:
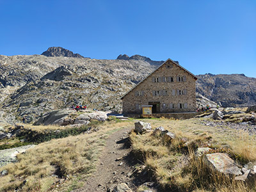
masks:
<svg viewBox="0 0 256 192"><path fill-rule="evenodd" d="M196 77L196 92L224 107L256 104L256 78L244 74L205 74Z"/></svg>

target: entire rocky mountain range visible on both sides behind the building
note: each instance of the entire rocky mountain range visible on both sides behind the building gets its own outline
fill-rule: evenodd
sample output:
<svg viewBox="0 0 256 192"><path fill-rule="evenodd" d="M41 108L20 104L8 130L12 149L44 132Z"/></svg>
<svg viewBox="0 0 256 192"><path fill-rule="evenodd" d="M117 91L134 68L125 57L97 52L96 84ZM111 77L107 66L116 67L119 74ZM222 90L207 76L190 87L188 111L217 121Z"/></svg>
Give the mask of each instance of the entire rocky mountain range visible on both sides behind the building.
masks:
<svg viewBox="0 0 256 192"><path fill-rule="evenodd" d="M50 47L42 55L0 55L0 122L15 122L21 116L34 121L72 104L120 113L120 97L162 63L125 54L116 60L95 60L62 47ZM198 105L202 98L204 103L212 100L225 107L256 104L256 78L197 77Z"/></svg>

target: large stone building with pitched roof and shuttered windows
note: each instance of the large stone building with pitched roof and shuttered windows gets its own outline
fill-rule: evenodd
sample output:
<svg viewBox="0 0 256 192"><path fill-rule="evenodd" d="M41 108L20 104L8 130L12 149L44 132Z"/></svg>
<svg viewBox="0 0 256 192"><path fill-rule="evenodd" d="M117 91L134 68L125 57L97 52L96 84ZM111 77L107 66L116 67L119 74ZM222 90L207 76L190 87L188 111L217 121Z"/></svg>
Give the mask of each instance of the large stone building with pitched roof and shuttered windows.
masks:
<svg viewBox="0 0 256 192"><path fill-rule="evenodd" d="M166 60L121 98L123 113L141 114L141 106L152 105L152 113L195 113L196 77L173 60Z"/></svg>

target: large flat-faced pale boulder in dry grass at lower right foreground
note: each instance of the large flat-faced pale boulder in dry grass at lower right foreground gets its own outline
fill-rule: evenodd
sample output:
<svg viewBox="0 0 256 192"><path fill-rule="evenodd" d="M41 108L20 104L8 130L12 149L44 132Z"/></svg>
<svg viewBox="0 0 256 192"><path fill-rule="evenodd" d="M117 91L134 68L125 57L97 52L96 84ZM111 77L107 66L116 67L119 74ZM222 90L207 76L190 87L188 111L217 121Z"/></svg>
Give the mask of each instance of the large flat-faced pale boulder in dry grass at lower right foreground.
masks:
<svg viewBox="0 0 256 192"><path fill-rule="evenodd" d="M241 169L236 166L234 160L227 154L207 154L204 156L204 162L209 166L209 168L212 168L217 172L231 175L242 175Z"/></svg>

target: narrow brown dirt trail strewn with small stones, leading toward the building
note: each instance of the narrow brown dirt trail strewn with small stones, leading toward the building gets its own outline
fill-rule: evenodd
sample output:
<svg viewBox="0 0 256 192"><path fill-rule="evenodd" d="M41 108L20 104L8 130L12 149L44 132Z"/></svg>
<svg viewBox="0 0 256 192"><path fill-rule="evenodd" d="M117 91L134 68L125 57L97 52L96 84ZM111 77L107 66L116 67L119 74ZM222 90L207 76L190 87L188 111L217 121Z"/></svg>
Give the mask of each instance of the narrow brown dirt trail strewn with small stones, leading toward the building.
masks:
<svg viewBox="0 0 256 192"><path fill-rule="evenodd" d="M76 192L108 191L114 184L122 182L125 182L132 191L136 190L136 186L132 184L134 178L127 175L132 172L134 163L129 156L131 148L127 146L128 133L131 129L121 129L109 136L96 172L86 180L83 188L76 189Z"/></svg>

